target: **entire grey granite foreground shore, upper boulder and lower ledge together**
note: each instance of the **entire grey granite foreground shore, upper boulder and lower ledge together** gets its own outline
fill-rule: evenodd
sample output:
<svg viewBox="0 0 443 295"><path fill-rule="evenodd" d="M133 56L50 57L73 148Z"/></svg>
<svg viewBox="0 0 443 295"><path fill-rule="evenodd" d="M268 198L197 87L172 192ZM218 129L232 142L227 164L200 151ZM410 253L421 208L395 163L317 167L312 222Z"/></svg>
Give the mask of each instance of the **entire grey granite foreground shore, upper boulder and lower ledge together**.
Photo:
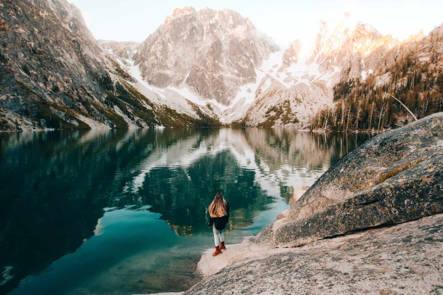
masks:
<svg viewBox="0 0 443 295"><path fill-rule="evenodd" d="M443 294L443 113L379 134L260 234L202 253L195 294Z"/></svg>

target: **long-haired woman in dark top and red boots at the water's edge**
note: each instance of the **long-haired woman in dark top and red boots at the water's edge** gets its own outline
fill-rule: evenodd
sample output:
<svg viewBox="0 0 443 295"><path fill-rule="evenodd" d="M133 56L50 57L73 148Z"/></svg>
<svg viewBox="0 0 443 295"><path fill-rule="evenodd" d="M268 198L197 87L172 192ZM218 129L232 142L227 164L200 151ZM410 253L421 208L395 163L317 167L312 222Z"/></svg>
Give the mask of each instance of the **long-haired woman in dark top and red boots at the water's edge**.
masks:
<svg viewBox="0 0 443 295"><path fill-rule="evenodd" d="M223 230L229 220L229 203L225 201L221 192L215 195L214 200L208 207L208 211L210 215L208 227L212 226L215 243L215 252L212 253L212 256L217 256L221 254L221 250L226 250Z"/></svg>

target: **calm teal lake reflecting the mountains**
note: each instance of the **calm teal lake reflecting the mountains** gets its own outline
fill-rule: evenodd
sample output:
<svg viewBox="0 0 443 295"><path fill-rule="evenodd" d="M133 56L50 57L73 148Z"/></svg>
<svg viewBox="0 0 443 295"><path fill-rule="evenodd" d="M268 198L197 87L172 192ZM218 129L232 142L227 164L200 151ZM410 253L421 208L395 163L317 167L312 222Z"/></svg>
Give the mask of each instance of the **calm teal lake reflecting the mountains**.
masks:
<svg viewBox="0 0 443 295"><path fill-rule="evenodd" d="M371 134L291 128L0 134L0 293L183 291L213 247L206 207L231 206L229 243L258 234Z"/></svg>

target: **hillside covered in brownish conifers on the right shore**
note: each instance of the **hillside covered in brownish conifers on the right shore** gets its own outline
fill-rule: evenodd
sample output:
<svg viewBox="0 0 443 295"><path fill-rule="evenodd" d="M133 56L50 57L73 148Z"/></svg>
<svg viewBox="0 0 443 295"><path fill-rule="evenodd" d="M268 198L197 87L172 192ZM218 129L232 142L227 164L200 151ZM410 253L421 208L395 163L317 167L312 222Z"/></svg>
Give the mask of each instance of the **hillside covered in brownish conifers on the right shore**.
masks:
<svg viewBox="0 0 443 295"><path fill-rule="evenodd" d="M383 130L411 122L412 114L420 119L443 111L443 25L365 59L377 62L369 73L342 76L335 103L312 118L315 128Z"/></svg>

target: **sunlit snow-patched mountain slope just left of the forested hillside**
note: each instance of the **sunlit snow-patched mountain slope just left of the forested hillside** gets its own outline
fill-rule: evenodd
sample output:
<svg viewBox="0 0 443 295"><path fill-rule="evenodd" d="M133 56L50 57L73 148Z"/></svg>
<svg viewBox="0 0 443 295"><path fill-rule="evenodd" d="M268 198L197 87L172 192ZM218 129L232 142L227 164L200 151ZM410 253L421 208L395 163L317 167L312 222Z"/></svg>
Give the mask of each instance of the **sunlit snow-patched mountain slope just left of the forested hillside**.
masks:
<svg viewBox="0 0 443 295"><path fill-rule="evenodd" d="M319 22L309 56L299 56L299 41L280 52L272 69L264 70L266 77L255 92L255 101L235 123L307 128L319 109L333 103L333 86L340 77L364 74L364 69L378 62L367 55L383 56L394 44L395 39L382 36L369 24L350 20L347 14Z"/></svg>

